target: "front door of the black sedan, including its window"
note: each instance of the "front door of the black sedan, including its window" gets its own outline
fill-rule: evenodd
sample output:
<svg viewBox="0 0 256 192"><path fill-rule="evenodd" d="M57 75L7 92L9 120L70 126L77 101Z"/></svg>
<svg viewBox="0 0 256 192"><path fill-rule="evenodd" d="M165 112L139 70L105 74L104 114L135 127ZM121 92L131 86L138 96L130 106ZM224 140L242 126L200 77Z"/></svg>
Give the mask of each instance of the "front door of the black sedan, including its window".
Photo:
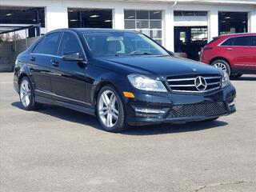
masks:
<svg viewBox="0 0 256 192"><path fill-rule="evenodd" d="M58 55L50 65L50 82L55 98L65 102L86 104L86 63L84 61L66 61L62 55L78 53L86 61L78 35L71 31L62 34Z"/></svg>

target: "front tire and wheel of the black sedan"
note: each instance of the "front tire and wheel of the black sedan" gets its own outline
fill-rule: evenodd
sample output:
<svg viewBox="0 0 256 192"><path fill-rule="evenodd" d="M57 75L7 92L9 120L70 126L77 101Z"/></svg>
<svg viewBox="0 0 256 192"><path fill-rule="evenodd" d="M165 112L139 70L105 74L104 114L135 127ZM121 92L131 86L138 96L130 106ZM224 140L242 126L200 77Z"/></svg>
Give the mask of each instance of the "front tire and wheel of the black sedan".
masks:
<svg viewBox="0 0 256 192"><path fill-rule="evenodd" d="M104 130L119 133L128 128L124 106L114 86L104 86L99 91L96 111Z"/></svg>

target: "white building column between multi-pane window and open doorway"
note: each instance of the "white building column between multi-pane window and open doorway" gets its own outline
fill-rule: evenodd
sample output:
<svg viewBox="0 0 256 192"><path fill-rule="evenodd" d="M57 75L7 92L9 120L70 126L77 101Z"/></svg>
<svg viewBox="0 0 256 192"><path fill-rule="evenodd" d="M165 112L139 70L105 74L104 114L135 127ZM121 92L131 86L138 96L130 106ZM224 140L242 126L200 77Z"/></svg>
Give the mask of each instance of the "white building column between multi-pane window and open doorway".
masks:
<svg viewBox="0 0 256 192"><path fill-rule="evenodd" d="M174 10L169 6L164 10L163 46L167 50L174 51Z"/></svg>

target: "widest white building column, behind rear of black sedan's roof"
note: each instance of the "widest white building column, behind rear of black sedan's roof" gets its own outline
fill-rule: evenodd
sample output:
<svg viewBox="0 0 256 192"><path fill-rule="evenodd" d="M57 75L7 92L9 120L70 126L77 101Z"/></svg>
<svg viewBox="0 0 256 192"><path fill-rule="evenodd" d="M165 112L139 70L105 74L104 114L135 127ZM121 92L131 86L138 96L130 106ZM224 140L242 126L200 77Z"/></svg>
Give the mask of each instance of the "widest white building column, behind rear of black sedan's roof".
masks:
<svg viewBox="0 0 256 192"><path fill-rule="evenodd" d="M46 6L46 32L60 28L68 28L68 13L66 6Z"/></svg>

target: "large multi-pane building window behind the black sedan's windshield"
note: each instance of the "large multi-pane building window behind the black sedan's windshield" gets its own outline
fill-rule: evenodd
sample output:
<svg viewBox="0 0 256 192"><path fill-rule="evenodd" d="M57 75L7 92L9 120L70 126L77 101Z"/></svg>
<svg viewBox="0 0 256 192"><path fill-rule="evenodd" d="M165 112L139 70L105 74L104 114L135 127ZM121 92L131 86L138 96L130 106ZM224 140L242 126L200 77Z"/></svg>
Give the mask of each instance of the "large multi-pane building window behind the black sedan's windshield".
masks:
<svg viewBox="0 0 256 192"><path fill-rule="evenodd" d="M125 10L125 29L137 30L162 44L162 11Z"/></svg>

